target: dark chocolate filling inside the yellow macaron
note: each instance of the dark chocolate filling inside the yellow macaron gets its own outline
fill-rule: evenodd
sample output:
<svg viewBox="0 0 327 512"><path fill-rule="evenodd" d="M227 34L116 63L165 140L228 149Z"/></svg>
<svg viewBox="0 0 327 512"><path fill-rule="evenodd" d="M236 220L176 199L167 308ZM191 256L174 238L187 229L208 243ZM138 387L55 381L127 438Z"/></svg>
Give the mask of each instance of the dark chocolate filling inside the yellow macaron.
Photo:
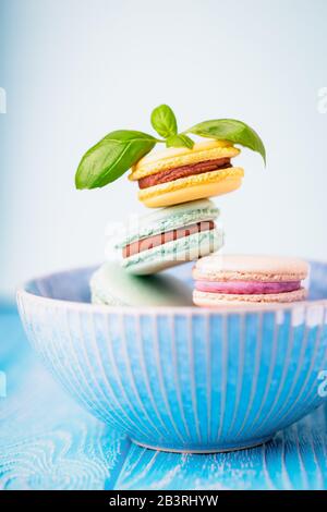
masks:
<svg viewBox="0 0 327 512"><path fill-rule="evenodd" d="M195 174L202 174L204 172L218 171L219 169L227 169L229 167L232 167L230 158L219 158L216 160L190 163L189 166L167 169L166 171L157 172L157 174L141 178L138 180L138 186L140 188L147 188L149 186L178 180L179 178L186 178Z"/></svg>

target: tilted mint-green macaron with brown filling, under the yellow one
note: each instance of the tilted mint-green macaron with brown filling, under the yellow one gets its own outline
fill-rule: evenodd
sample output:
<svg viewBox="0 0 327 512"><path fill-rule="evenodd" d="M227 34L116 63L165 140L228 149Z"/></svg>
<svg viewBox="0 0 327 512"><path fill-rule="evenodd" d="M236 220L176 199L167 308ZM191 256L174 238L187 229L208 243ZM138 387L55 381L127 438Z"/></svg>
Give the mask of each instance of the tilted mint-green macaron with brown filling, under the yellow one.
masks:
<svg viewBox="0 0 327 512"><path fill-rule="evenodd" d="M141 217L116 241L122 267L145 276L218 251L223 244L223 233L215 224L218 216L211 200L198 199Z"/></svg>

